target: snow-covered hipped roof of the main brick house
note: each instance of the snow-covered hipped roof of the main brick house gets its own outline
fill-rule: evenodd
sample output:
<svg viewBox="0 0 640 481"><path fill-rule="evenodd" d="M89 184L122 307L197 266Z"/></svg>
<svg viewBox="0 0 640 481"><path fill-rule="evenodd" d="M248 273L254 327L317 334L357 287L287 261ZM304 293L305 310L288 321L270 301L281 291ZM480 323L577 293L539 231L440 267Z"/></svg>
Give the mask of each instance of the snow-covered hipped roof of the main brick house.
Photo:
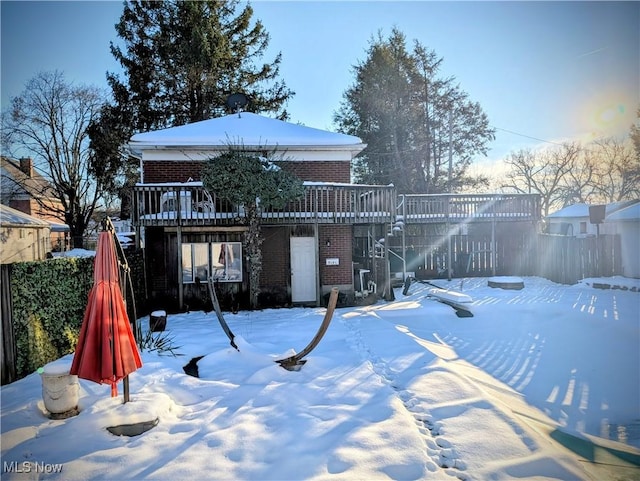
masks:
<svg viewBox="0 0 640 481"><path fill-rule="evenodd" d="M365 148L359 137L292 124L241 112L192 124L136 134L131 148L154 147L307 147L341 150Z"/></svg>

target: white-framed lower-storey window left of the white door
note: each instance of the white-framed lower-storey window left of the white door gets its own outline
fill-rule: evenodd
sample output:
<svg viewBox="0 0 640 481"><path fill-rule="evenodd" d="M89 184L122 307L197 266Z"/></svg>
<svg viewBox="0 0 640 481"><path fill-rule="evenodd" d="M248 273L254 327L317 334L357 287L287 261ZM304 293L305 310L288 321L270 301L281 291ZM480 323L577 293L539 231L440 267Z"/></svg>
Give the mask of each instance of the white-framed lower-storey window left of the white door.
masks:
<svg viewBox="0 0 640 481"><path fill-rule="evenodd" d="M210 272L219 282L242 282L242 244L182 244L182 283L206 282Z"/></svg>

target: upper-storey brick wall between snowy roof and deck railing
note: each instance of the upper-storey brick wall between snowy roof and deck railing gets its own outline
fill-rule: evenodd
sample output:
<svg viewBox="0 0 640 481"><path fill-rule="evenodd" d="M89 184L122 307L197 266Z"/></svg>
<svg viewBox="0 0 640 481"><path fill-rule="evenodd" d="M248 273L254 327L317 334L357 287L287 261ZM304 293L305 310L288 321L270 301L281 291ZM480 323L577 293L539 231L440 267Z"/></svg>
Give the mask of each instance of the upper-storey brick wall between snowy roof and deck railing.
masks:
<svg viewBox="0 0 640 481"><path fill-rule="evenodd" d="M144 181L186 182L189 178L200 180L203 162L198 161L148 161L144 162ZM315 182L344 182L351 179L351 167L344 161L289 162L284 167L302 180Z"/></svg>

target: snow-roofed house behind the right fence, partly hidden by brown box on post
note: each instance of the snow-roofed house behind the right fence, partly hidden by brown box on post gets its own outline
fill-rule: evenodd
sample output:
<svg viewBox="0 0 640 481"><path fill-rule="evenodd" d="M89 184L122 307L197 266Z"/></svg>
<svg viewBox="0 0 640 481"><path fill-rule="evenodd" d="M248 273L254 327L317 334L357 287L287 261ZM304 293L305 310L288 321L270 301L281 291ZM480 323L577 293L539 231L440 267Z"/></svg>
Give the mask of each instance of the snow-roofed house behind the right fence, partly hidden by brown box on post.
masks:
<svg viewBox="0 0 640 481"><path fill-rule="evenodd" d="M638 202L640 201L631 200L606 204L603 221L618 210ZM546 218L547 233L575 237L597 235L599 229L598 224L591 223L592 219L589 215L589 207L589 204L573 204L549 214ZM600 233L604 233L602 231L602 223L600 223Z"/></svg>

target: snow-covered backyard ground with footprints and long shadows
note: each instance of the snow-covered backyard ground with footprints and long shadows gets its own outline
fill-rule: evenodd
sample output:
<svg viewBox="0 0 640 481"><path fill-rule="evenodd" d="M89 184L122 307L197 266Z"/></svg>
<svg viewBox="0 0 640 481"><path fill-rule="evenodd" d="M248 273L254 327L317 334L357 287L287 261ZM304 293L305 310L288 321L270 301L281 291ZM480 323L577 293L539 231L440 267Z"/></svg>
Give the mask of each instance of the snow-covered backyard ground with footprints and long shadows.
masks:
<svg viewBox="0 0 640 481"><path fill-rule="evenodd" d="M226 314L240 352L214 313L170 315L182 356L144 352L127 404L80 380L80 414L51 420L38 373L2 387L2 479L640 478L640 281L487 280L434 281L474 317L421 284L337 309L299 372L273 359L324 309ZM156 417L136 437L105 429Z"/></svg>

